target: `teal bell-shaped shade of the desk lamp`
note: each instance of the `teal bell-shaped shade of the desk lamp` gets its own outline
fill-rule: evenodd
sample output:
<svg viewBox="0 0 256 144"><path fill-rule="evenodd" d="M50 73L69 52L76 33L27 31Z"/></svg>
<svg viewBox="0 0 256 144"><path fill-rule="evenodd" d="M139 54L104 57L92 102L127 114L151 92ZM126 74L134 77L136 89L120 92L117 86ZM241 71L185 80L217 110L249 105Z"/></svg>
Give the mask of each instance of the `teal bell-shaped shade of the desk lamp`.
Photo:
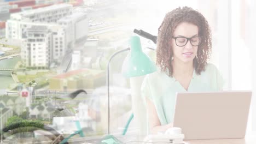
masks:
<svg viewBox="0 0 256 144"><path fill-rule="evenodd" d="M138 36L130 39L131 52L124 60L122 73L126 78L154 73L156 65L141 49L141 40Z"/></svg>

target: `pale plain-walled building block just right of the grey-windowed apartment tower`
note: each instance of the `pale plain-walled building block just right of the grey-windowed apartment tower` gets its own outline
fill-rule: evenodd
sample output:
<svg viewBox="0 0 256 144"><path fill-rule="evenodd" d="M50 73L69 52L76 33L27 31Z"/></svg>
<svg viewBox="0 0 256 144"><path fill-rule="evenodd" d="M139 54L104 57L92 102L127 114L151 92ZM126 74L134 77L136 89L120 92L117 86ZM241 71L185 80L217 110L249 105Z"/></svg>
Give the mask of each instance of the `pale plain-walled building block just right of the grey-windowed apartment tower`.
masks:
<svg viewBox="0 0 256 144"><path fill-rule="evenodd" d="M73 48L75 43L86 40L89 32L89 19L86 13L74 13L65 16L57 23L66 28L68 47Z"/></svg>

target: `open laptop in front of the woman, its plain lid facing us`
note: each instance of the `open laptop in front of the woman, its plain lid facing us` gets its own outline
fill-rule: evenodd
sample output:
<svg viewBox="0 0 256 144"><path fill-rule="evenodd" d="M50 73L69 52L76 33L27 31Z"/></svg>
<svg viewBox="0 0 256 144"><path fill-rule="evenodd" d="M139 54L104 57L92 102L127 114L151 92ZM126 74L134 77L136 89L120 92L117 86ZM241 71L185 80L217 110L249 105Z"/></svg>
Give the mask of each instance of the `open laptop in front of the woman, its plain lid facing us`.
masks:
<svg viewBox="0 0 256 144"><path fill-rule="evenodd" d="M252 92L186 92L176 94L173 127L184 140L244 138Z"/></svg>

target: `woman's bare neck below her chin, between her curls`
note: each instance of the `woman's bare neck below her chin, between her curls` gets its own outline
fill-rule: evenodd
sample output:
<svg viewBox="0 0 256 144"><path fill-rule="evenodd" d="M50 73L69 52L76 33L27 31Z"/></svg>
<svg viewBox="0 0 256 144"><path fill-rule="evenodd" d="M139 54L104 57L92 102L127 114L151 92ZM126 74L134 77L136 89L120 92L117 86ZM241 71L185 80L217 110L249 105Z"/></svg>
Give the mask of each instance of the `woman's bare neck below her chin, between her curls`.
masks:
<svg viewBox="0 0 256 144"><path fill-rule="evenodd" d="M172 68L174 76L192 76L194 71L193 61L184 63L182 61L175 61L175 59L173 59Z"/></svg>

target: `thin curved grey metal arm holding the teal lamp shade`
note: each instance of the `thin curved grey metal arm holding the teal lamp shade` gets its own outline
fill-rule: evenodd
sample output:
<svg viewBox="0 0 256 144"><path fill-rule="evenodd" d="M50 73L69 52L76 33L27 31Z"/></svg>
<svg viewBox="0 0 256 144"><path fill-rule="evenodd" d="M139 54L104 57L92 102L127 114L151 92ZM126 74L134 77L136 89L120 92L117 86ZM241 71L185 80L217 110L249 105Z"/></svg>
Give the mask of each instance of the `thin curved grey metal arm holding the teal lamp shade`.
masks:
<svg viewBox="0 0 256 144"><path fill-rule="evenodd" d="M130 47L126 48L126 49L121 49L115 53L113 53L112 56L110 56L109 58L109 61L108 61L108 70L107 70L107 87L108 87L108 135L109 135L109 124L110 124L110 115L109 115L109 111L110 111L110 105L109 105L109 64L111 62L111 60L116 56L118 55L119 53L121 52L124 52L124 51L129 51L131 50Z"/></svg>

